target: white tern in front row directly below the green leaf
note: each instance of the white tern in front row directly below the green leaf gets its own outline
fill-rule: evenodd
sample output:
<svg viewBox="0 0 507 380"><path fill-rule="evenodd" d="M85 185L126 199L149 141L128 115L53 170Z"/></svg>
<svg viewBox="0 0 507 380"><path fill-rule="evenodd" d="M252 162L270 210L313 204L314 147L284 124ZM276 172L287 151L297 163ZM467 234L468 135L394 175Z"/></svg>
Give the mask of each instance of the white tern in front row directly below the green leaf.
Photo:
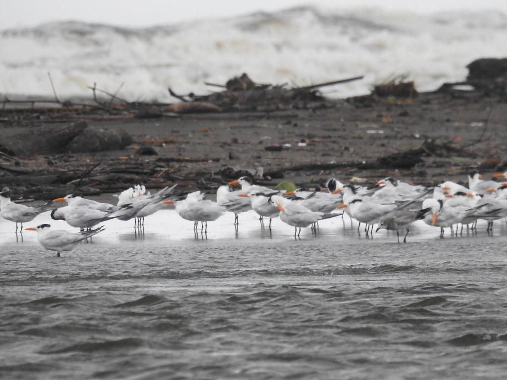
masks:
<svg viewBox="0 0 507 380"><path fill-rule="evenodd" d="M302 227L308 227L310 224L317 222L318 220L328 219L341 214L324 214L323 212L315 212L307 209L306 207L291 201L289 199L274 195L271 197L271 201L276 204L278 210L280 210L280 219L288 224L295 227L294 237L296 233L301 234Z"/></svg>

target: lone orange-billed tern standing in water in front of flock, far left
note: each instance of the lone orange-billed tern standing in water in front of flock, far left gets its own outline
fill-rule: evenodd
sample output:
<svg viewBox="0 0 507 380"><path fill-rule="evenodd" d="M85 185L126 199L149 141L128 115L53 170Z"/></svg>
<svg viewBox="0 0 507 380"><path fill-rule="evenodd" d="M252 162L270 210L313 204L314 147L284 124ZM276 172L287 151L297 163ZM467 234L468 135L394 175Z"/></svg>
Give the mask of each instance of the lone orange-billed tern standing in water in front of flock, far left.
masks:
<svg viewBox="0 0 507 380"><path fill-rule="evenodd" d="M37 231L37 240L46 249L56 251L56 256L60 257L60 252L71 251L80 241L91 238L105 229L100 226L95 230L71 233L63 230L51 231L50 224L41 224L37 227L29 227L25 230Z"/></svg>

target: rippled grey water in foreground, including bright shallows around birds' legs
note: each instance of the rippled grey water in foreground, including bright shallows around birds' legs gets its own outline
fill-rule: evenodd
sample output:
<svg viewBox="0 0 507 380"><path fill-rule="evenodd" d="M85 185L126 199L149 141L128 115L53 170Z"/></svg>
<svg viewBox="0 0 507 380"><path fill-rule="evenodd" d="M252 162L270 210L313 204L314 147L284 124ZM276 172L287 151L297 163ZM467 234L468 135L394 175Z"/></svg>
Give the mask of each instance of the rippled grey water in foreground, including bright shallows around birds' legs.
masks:
<svg viewBox="0 0 507 380"><path fill-rule="evenodd" d="M172 210L143 235L108 221L60 258L1 220L0 378L504 377L503 221L444 239L416 224L397 244L348 219L295 240L233 218L207 236Z"/></svg>

